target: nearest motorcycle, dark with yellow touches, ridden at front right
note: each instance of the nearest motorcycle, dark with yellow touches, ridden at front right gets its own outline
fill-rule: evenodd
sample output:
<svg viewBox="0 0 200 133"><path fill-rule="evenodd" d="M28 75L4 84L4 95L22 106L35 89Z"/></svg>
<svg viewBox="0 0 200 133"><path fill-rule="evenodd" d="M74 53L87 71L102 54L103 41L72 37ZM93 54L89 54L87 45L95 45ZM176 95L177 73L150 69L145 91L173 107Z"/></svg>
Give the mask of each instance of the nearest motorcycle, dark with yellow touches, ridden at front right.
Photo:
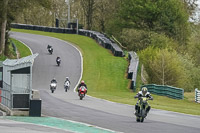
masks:
<svg viewBox="0 0 200 133"><path fill-rule="evenodd" d="M148 102L147 102L148 100L151 100L151 99L148 99L146 97L139 98L138 109L136 110L136 113L135 113L137 122L143 122L144 118L146 118L147 116L146 110L149 107Z"/></svg>

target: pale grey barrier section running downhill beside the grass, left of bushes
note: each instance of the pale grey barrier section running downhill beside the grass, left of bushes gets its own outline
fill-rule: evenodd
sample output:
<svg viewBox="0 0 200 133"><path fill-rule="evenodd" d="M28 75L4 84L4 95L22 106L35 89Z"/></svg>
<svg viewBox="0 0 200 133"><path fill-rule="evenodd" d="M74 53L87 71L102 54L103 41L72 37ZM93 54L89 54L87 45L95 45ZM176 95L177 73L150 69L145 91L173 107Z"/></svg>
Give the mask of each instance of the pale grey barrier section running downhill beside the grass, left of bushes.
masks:
<svg viewBox="0 0 200 133"><path fill-rule="evenodd" d="M128 59L129 59L129 67L128 67L128 79L131 79L131 86L130 89L135 91L136 89L136 78L137 78L137 70L139 65L139 57L133 51L128 52Z"/></svg>

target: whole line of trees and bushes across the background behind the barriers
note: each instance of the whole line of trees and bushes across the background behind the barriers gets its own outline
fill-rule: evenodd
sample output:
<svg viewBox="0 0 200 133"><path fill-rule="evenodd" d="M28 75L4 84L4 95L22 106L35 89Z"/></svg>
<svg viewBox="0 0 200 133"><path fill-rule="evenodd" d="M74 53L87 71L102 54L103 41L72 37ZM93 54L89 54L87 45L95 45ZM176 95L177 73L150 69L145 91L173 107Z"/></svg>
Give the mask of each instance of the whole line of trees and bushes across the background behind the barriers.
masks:
<svg viewBox="0 0 200 133"><path fill-rule="evenodd" d="M69 0L71 20L117 38L136 51L147 83L193 91L200 87L200 27L189 19L197 0ZM6 55L11 22L66 27L65 0L0 0L0 54Z"/></svg>

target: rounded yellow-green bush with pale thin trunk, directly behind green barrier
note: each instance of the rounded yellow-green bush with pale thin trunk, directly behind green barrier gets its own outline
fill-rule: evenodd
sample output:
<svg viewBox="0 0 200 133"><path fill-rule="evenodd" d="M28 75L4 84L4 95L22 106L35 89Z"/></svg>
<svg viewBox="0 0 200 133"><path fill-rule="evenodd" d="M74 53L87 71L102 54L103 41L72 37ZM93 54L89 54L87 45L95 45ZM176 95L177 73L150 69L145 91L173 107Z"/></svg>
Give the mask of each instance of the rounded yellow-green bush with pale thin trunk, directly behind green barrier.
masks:
<svg viewBox="0 0 200 133"><path fill-rule="evenodd" d="M156 58L149 64L153 72L152 82L161 85L180 86L178 82L185 76L184 68L177 60L175 51L159 50Z"/></svg>

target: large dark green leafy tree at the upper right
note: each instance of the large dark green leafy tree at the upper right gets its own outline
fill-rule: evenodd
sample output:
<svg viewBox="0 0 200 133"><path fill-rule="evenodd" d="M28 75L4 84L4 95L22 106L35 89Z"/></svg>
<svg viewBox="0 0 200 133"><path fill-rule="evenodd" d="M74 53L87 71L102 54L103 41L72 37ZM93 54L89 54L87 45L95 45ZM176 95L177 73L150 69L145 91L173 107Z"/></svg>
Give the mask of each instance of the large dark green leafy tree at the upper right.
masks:
<svg viewBox="0 0 200 133"><path fill-rule="evenodd" d="M122 28L164 33L183 45L190 34L189 14L180 0L123 0Z"/></svg>

